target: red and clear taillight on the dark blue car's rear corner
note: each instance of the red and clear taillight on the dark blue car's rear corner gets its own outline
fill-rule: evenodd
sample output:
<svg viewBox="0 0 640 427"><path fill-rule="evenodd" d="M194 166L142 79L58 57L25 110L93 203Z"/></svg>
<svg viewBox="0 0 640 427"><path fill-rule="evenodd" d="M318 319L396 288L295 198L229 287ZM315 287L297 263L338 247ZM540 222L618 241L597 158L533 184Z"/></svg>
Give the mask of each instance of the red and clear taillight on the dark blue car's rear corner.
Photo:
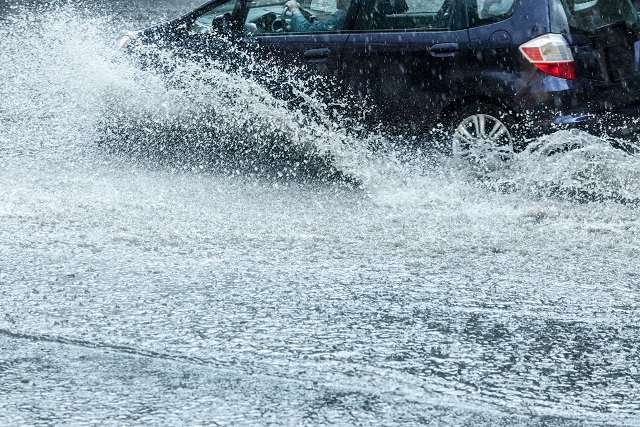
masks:
<svg viewBox="0 0 640 427"><path fill-rule="evenodd" d="M545 34L520 46L520 52L538 69L555 77L576 80L569 44L560 34Z"/></svg>

